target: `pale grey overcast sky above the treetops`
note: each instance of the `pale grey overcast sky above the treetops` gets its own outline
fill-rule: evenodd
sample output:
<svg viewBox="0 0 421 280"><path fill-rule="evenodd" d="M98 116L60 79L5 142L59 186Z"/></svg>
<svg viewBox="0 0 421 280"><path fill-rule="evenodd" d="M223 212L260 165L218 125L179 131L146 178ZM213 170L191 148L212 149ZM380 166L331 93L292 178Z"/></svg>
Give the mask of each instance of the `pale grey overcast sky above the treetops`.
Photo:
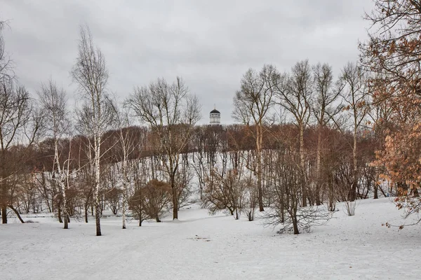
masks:
<svg viewBox="0 0 421 280"><path fill-rule="evenodd" d="M20 83L34 93L51 76L74 104L69 76L79 25L87 24L104 52L109 90L122 101L135 85L182 76L202 104L208 123L213 104L222 123L233 123L232 97L243 73L274 64L328 62L335 75L358 59L371 0L170 1L0 0L6 51Z"/></svg>

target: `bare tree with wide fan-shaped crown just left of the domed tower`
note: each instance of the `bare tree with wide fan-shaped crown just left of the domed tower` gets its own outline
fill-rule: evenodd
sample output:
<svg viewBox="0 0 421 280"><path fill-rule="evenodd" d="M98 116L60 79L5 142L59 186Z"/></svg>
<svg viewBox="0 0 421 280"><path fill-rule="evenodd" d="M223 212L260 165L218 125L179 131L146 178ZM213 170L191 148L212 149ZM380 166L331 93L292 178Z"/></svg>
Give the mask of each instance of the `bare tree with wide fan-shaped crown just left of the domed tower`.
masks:
<svg viewBox="0 0 421 280"><path fill-rule="evenodd" d="M189 94L182 78L177 78L171 85L159 78L149 86L136 87L126 104L142 123L151 127L152 134L159 139L159 155L171 185L173 219L178 219L178 188L175 180L181 154L192 137L194 125L201 118L199 102Z"/></svg>

